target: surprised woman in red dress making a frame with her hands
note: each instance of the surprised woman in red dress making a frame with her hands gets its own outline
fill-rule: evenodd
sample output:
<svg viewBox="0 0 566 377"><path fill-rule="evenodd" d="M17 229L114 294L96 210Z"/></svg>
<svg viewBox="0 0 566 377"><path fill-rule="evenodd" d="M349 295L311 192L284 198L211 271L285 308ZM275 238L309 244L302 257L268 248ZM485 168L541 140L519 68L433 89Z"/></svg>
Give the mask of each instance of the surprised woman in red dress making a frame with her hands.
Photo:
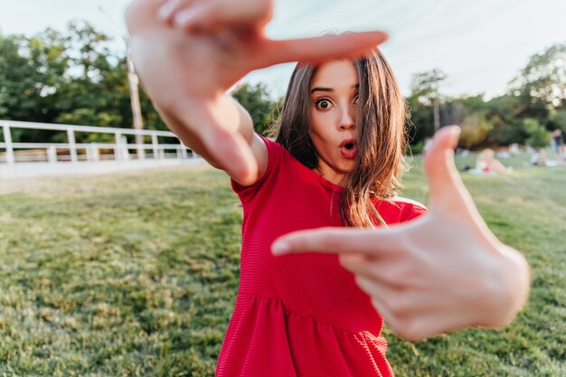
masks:
<svg viewBox="0 0 566 377"><path fill-rule="evenodd" d="M448 183L441 191L448 193L444 204L456 207L440 205L439 212L420 216L425 211L418 203L394 198L402 169L405 108L389 66L374 47L386 36L350 33L270 41L263 32L271 5L261 0L138 0L127 13L132 56L156 107L185 145L231 176L244 206L241 287L217 375L392 375L379 336L382 315L401 335L414 339L464 325L499 325L494 318L508 321L523 305L528 268L514 250L492 255L501 245L486 231L445 156L458 131L450 128L439 135L428 158L430 164L444 165L436 173L435 168L428 170ZM224 93L247 72L283 61L303 63L291 79L275 143L254 134L249 114ZM439 242L435 235L447 213L456 223L451 228L455 232ZM379 262L367 252L340 259L315 254L276 257L269 252L271 242L290 231L341 225L373 228L418 216L407 223L408 236L397 232L387 258L376 258L389 260L391 269L371 270ZM407 241L415 229L423 228L432 231L421 234L418 243ZM295 237L281 240L275 250L301 249L293 243ZM459 266L452 274L435 276L423 269L429 260L410 254L452 250L460 247L458 237L467 237L471 249L448 258ZM344 250L339 241L335 246L335 251ZM469 250L492 255L498 263L479 269L485 263L470 258ZM462 255L467 259L458 265L456 257ZM443 256L434 257L440 268L446 263ZM477 267L473 279L469 272L464 278L455 275L470 266ZM526 272L519 279L501 279L500 269L508 266ZM478 273L495 278L470 287ZM411 295L428 295L420 288L450 277L458 278L453 287L474 295L458 297L445 287L434 292L436 300L417 300L419 307L391 309L391 297L407 297L397 295L400 287L410 287L402 291ZM381 284L378 293L373 292L375 281L368 282L372 279ZM500 284L489 284L494 281ZM508 285L514 283L520 283L519 297L509 294ZM452 306L442 306L450 300ZM480 302L484 305L478 310L469 310ZM462 303L466 310L458 306ZM426 331L419 323L397 326L411 316L434 323L435 317L447 315L448 325L437 321Z"/></svg>

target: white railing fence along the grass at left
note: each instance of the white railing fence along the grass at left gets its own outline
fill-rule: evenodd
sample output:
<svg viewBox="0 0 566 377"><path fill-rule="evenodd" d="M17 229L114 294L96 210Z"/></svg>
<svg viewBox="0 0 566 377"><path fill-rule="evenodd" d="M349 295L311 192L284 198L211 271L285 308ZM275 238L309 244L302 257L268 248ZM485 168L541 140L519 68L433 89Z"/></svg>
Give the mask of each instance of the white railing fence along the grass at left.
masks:
<svg viewBox="0 0 566 377"><path fill-rule="evenodd" d="M4 142L0 142L0 164L14 165L19 162L98 162L101 160L125 161L131 159L187 159L195 157L191 150L168 131L135 130L128 128L87 127L46 123L0 120ZM64 132L66 143L14 143L14 129L39 129ZM77 143L77 134L106 134L111 142ZM143 140L128 143L127 137ZM159 143L161 138L161 144ZM146 143L146 139L149 141ZM167 139L167 140L164 140ZM171 140L171 142L168 142ZM167 141L165 143L164 141ZM130 153L133 151L134 153Z"/></svg>

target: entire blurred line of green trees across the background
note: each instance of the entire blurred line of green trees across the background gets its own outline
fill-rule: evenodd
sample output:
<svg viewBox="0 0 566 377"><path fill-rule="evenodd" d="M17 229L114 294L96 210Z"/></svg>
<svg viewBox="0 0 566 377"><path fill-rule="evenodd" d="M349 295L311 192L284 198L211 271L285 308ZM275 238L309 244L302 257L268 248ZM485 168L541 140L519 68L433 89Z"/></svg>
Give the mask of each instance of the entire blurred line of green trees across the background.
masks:
<svg viewBox="0 0 566 377"><path fill-rule="evenodd" d="M131 127L126 52L110 51L111 38L86 22L64 33L47 29L33 37L0 34L0 119ZM408 129L418 151L435 127L458 124L467 148L512 143L546 146L553 129L566 132L566 42L534 54L494 99L442 95L446 74L413 76ZM248 108L259 133L277 118L280 100L265 85L242 85L233 93ZM166 129L141 90L144 127ZM62 141L49 131L18 130L14 141ZM100 136L80 142L102 141ZM2 136L0 135L0 139Z"/></svg>

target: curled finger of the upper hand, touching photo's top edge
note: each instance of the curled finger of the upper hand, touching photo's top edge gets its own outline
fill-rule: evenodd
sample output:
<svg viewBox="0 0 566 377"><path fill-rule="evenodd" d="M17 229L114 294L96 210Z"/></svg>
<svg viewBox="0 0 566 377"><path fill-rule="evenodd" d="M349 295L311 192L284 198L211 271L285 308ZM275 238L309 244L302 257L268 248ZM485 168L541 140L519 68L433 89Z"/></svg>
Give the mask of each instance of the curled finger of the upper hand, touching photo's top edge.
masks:
<svg viewBox="0 0 566 377"><path fill-rule="evenodd" d="M184 6L172 18L175 26L184 30L212 32L225 27L258 27L267 24L272 14L273 3L268 0L207 0L193 1L193 6Z"/></svg>

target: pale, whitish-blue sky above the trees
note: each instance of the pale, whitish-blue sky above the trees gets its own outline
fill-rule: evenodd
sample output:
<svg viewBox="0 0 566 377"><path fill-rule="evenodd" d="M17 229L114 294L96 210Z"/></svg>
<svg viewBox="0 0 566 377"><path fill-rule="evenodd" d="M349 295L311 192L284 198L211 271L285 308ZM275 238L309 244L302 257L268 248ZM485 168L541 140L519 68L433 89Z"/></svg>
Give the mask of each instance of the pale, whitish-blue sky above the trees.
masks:
<svg viewBox="0 0 566 377"><path fill-rule="evenodd" d="M0 0L0 33L31 36L47 27L64 31L88 20L124 48L123 14L130 0ZM566 43L566 0L275 0L267 33L274 39L316 36L328 30L382 30L382 52L401 89L413 74L438 68L447 95L503 94L529 57ZM293 64L250 73L274 96L285 93Z"/></svg>

